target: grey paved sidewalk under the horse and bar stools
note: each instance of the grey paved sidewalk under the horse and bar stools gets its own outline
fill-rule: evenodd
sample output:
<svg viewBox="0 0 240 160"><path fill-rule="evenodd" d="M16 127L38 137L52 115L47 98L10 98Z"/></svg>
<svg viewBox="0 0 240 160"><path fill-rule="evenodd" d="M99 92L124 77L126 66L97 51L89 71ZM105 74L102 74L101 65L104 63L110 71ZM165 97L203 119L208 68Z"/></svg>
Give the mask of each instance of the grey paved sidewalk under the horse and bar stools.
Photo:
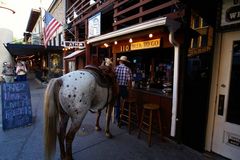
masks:
<svg viewBox="0 0 240 160"><path fill-rule="evenodd" d="M43 94L45 86L30 79L33 124L7 131L0 129L0 160L42 160L43 159ZM104 114L100 125L102 131L94 130L96 115L88 113L73 143L75 160L224 160L194 151L184 145L160 142L153 137L148 147L146 137L137 138L136 131L128 134L127 128L111 124L114 135L108 139L104 134ZM55 159L59 159L59 148Z"/></svg>

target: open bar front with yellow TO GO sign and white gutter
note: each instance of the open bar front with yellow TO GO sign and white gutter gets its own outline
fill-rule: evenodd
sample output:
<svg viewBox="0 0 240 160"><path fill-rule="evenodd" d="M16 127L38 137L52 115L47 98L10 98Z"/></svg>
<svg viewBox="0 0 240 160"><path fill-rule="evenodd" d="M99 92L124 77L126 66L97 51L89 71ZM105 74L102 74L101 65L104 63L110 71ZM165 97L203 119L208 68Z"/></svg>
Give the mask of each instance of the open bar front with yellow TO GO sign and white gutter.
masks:
<svg viewBox="0 0 240 160"><path fill-rule="evenodd" d="M163 132L168 137L174 137L176 131L179 44L174 33L179 27L178 22L163 17L87 41L102 50L105 46L105 55L111 52L115 65L120 56L128 57L138 105L160 104Z"/></svg>

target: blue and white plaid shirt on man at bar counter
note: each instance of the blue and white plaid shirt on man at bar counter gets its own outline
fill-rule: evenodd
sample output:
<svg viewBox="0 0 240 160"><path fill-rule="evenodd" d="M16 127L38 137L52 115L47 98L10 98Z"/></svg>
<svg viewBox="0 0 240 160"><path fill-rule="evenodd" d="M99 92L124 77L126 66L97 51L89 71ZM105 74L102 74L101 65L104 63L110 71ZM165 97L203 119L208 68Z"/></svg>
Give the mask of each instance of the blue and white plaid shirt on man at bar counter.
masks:
<svg viewBox="0 0 240 160"><path fill-rule="evenodd" d="M130 68L125 66L124 64L120 64L115 68L115 72L117 75L118 85L127 86L128 81L132 80L132 72Z"/></svg>

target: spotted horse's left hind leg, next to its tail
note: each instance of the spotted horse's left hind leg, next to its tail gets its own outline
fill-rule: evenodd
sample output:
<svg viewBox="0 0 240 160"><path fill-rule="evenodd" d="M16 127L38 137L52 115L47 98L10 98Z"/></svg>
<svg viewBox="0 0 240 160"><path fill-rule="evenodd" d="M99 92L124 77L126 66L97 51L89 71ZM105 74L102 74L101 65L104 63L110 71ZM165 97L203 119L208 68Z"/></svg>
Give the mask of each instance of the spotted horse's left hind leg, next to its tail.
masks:
<svg viewBox="0 0 240 160"><path fill-rule="evenodd" d="M61 152L61 159L63 160L66 156L64 140L66 136L66 128L68 124L69 116L64 112L60 111L60 121L58 127L58 141Z"/></svg>

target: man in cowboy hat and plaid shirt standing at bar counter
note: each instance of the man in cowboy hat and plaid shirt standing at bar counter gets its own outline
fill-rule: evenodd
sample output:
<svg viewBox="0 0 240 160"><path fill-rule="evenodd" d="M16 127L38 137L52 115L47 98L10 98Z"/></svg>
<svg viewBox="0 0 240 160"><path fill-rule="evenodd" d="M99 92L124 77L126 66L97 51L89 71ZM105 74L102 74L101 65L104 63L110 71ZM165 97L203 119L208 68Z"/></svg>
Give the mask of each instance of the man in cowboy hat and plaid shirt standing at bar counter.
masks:
<svg viewBox="0 0 240 160"><path fill-rule="evenodd" d="M114 107L115 122L119 123L120 119L120 104L121 99L125 99L128 96L129 88L132 87L132 71L126 66L126 63L130 63L126 56L121 56L117 59L119 65L115 68L118 84L117 101Z"/></svg>

